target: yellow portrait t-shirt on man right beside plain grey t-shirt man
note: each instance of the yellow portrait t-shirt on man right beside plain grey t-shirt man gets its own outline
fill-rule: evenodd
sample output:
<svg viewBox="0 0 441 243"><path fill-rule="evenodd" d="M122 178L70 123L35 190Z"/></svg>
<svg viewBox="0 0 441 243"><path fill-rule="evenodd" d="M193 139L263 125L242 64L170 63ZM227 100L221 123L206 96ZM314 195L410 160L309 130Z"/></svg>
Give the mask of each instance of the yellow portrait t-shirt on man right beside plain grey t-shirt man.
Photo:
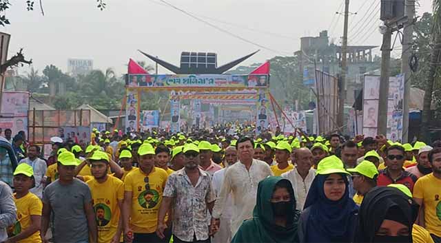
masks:
<svg viewBox="0 0 441 243"><path fill-rule="evenodd" d="M124 182L113 176L99 183L96 180L86 182L92 193L95 220L98 226L98 242L111 242L118 229L121 209L118 200L124 200Z"/></svg>

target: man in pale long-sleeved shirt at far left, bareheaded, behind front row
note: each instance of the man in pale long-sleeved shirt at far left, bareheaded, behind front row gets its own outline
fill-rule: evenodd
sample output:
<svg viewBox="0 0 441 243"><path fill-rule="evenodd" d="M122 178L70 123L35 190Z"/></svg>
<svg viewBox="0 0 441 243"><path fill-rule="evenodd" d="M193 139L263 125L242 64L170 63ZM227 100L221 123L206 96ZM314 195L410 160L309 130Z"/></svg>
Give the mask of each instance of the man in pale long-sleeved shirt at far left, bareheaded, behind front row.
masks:
<svg viewBox="0 0 441 243"><path fill-rule="evenodd" d="M43 178L48 169L48 165L46 165L44 160L39 158L39 155L40 147L37 145L30 145L28 147L28 158L23 158L23 160L20 160L19 164L26 163L34 169L35 187L31 188L29 191L34 193L40 199L43 199Z"/></svg>

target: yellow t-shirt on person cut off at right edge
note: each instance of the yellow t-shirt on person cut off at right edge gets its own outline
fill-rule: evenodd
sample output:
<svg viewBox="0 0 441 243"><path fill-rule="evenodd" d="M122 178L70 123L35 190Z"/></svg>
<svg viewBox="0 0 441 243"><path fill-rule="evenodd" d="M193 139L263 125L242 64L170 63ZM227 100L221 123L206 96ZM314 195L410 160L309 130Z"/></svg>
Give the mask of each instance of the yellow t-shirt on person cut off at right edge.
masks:
<svg viewBox="0 0 441 243"><path fill-rule="evenodd" d="M413 186L413 198L424 204L424 223L427 231L441 237L441 180L433 173L420 177Z"/></svg>

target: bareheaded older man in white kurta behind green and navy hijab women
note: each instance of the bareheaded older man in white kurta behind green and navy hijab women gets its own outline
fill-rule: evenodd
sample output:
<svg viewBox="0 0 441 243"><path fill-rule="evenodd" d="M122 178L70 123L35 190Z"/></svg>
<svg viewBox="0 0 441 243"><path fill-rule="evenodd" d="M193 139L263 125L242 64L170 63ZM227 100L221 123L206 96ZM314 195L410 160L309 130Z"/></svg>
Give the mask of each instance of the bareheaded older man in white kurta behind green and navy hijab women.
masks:
<svg viewBox="0 0 441 243"><path fill-rule="evenodd" d="M296 197L296 209L302 211L312 181L316 178L316 170L311 168L312 153L307 148L296 149L296 168L282 174L289 180Z"/></svg>

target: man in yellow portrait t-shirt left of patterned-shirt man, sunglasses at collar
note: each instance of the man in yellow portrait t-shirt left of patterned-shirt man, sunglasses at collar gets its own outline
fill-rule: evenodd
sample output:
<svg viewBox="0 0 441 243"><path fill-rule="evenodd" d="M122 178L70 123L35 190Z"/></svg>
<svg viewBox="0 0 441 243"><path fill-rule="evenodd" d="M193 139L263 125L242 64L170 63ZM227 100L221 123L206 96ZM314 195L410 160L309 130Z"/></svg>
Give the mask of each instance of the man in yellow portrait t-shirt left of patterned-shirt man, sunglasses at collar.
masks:
<svg viewBox="0 0 441 243"><path fill-rule="evenodd" d="M145 143L138 149L139 168L125 176L124 235L126 241L166 242L156 235L158 209L163 199L167 172L154 167L155 151Z"/></svg>

